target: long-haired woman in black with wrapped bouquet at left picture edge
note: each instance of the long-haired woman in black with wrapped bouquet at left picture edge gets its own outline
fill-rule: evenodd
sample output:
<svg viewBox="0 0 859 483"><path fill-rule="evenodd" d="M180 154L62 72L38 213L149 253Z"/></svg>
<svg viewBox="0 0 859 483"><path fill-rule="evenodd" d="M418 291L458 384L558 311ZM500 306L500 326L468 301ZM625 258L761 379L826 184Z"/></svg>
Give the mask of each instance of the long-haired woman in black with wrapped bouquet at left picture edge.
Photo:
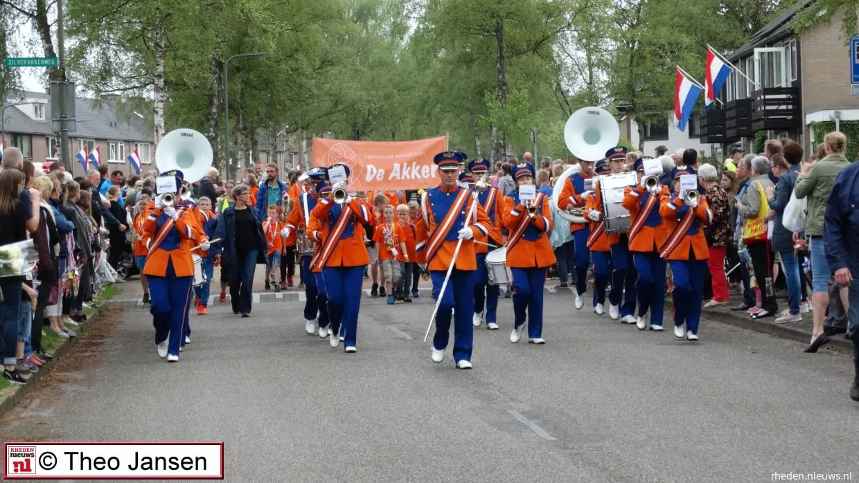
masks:
<svg viewBox="0 0 859 483"><path fill-rule="evenodd" d="M21 201L22 190L24 190L24 174L15 169L3 170L0 174L0 247L27 240L27 214L31 207L27 207ZM40 199L38 192L36 193L32 201L36 204L36 209L39 209ZM0 273L0 275L6 274ZM21 305L23 282L22 275L0 277L0 290L3 291L3 301L0 301L0 325L3 328L0 334L0 341L3 342L3 379L19 385L27 382L15 370L18 311Z"/></svg>

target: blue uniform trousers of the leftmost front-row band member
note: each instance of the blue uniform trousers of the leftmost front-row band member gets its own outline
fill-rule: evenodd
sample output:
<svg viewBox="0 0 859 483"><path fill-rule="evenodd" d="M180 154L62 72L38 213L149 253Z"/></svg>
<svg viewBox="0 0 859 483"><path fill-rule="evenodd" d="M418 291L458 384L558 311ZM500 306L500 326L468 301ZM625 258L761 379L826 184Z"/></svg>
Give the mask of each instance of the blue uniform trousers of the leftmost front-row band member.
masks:
<svg viewBox="0 0 859 483"><path fill-rule="evenodd" d="M169 333L168 353L178 356L179 347L185 342L184 320L190 308L194 277L177 277L174 273L173 263L168 263L167 276L147 275L147 279L155 343L167 340Z"/></svg>

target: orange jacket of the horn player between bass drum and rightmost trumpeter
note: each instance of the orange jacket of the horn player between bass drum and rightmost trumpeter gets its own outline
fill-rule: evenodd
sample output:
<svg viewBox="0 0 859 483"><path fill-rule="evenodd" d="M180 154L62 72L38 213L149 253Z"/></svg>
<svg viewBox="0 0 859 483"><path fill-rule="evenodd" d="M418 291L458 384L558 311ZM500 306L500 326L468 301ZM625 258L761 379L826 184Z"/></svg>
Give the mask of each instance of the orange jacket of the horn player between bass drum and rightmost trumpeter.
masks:
<svg viewBox="0 0 859 483"><path fill-rule="evenodd" d="M626 187L623 205L631 215L628 235L630 251L650 253L661 250L667 233L660 211L662 198L667 196L668 187L665 185L661 186L661 191L655 196L645 190L641 184ZM648 213L644 213L645 209Z"/></svg>

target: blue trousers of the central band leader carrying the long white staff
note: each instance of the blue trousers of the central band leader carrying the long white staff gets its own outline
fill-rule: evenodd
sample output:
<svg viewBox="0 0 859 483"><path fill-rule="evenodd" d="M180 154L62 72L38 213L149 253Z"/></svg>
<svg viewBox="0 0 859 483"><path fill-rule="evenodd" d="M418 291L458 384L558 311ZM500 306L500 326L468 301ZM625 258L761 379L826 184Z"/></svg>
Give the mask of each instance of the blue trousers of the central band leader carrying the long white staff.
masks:
<svg viewBox="0 0 859 483"><path fill-rule="evenodd" d="M447 270L430 272L432 288L442 298L442 303L436 312L436 335L433 337L433 347L444 350L450 339L450 318L454 307L454 361L472 359L472 341L474 326L472 325L472 308L474 300L474 272L472 270L455 269L450 273L448 287L442 292L444 277Z"/></svg>

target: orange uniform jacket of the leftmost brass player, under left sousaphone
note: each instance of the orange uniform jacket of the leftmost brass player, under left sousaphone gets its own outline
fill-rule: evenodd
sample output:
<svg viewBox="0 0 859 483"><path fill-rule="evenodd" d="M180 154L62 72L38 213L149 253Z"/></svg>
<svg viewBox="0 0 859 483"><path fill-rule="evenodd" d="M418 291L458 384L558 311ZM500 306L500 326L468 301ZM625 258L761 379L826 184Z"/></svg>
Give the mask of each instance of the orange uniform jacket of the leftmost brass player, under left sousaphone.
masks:
<svg viewBox="0 0 859 483"><path fill-rule="evenodd" d="M197 217L193 210L179 208L179 218L175 221L163 214L161 208L152 208L143 222L144 236L152 238L149 247L149 257L143 267L143 275L163 277L167 275L168 263L173 263L173 269L178 277L194 275L194 263L191 249L199 245L205 238L199 228ZM161 227L171 223L166 236L161 236Z"/></svg>

